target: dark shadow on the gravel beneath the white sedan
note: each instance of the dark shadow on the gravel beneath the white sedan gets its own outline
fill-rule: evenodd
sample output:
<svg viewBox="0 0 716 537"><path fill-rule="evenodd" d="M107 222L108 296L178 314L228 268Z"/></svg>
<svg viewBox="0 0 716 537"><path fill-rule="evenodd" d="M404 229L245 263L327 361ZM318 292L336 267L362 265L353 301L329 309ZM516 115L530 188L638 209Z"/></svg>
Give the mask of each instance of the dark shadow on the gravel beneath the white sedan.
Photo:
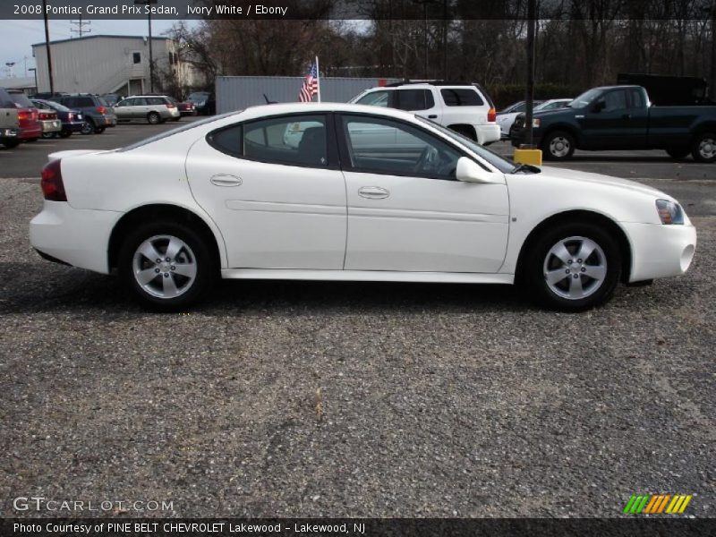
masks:
<svg viewBox="0 0 716 537"><path fill-rule="evenodd" d="M79 268L36 263L0 263L0 314L68 312L103 316L144 316L147 310L116 277ZM668 301L665 289L619 286L609 309L638 311L640 303ZM540 310L514 286L394 282L223 280L191 309L205 316L275 311L301 314L345 312L451 313Z"/></svg>

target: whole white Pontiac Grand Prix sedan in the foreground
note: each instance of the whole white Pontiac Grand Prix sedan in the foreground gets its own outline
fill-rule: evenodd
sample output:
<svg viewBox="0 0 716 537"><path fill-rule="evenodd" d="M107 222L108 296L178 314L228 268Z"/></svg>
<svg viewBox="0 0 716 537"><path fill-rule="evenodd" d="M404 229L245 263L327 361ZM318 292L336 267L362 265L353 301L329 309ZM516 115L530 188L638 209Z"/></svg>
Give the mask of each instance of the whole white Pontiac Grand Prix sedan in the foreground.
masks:
<svg viewBox="0 0 716 537"><path fill-rule="evenodd" d="M515 166L400 110L251 107L42 171L30 242L185 308L217 277L521 283L580 311L619 281L684 274L677 200L623 179Z"/></svg>

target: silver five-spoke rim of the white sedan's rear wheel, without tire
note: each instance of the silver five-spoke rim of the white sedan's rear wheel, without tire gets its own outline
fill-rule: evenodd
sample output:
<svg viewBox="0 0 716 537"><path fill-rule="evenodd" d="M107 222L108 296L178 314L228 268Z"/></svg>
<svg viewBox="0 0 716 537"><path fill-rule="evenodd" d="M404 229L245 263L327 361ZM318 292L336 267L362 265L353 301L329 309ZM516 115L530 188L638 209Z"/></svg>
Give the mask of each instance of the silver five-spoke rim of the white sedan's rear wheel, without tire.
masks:
<svg viewBox="0 0 716 537"><path fill-rule="evenodd" d="M192 287L197 272L196 257L181 239L155 235L134 251L132 272L147 293L158 298L175 298Z"/></svg>

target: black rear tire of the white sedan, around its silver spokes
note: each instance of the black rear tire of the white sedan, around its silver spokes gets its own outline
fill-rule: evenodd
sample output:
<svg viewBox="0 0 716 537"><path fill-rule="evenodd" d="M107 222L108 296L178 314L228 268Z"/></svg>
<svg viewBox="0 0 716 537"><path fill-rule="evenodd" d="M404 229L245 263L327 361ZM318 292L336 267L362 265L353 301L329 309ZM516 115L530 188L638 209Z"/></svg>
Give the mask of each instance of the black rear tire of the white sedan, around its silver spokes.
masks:
<svg viewBox="0 0 716 537"><path fill-rule="evenodd" d="M153 241L156 245L155 251L160 255L166 254L168 248L167 237L174 237L184 244L174 259L168 262L166 258L160 257L161 263L156 260L149 260L144 255L137 253L142 243ZM164 251L162 244L166 243ZM135 254L137 258L135 260ZM217 278L217 260L211 254L207 238L197 233L192 227L177 224L169 221L158 221L137 227L126 236L119 252L118 272L124 285L132 289L132 293L145 306L157 311L177 311L187 308L206 297ZM136 265L135 265L136 263ZM185 263L188 267L193 265L195 273L192 279L183 277L175 270L175 265ZM135 267L140 270L148 270L149 277L157 270L157 277L152 278L144 286L135 277ZM165 294L165 281L171 280L181 294L172 296L160 296ZM168 294L171 294L170 290Z"/></svg>

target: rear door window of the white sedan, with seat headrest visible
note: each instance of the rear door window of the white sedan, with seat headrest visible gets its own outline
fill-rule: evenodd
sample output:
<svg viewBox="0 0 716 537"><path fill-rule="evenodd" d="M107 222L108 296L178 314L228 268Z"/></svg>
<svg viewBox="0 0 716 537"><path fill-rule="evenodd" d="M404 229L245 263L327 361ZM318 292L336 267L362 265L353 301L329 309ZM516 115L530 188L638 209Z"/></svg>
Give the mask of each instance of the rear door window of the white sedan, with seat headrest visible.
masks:
<svg viewBox="0 0 716 537"><path fill-rule="evenodd" d="M293 115L243 125L243 156L263 162L328 166L326 120Z"/></svg>

